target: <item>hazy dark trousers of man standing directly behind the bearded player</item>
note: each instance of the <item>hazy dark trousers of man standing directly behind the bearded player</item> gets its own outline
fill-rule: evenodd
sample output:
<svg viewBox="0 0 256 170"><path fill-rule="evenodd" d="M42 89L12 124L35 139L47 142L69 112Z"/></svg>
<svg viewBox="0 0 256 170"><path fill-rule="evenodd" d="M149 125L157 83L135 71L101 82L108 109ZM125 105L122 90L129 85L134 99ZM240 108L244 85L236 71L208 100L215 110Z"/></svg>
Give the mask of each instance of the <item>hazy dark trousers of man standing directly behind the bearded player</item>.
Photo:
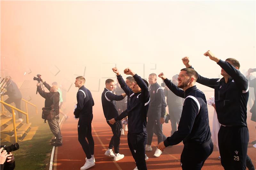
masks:
<svg viewBox="0 0 256 170"><path fill-rule="evenodd" d="M180 116L182 112L182 107L177 107L177 108L171 108L168 107L169 110L169 115L170 115L170 122L171 122L171 135L177 131L177 124L180 122Z"/></svg>

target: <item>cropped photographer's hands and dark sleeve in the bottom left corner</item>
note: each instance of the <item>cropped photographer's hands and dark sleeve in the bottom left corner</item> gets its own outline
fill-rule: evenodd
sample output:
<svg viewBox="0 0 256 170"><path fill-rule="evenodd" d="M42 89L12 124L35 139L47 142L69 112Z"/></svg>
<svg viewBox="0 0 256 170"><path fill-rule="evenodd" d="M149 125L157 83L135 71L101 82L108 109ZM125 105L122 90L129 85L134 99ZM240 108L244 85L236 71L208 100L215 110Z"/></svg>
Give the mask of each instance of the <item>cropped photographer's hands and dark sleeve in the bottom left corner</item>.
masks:
<svg viewBox="0 0 256 170"><path fill-rule="evenodd" d="M6 150L3 150L4 148L0 149L0 170L13 170L15 168L14 156L12 152L8 154Z"/></svg>

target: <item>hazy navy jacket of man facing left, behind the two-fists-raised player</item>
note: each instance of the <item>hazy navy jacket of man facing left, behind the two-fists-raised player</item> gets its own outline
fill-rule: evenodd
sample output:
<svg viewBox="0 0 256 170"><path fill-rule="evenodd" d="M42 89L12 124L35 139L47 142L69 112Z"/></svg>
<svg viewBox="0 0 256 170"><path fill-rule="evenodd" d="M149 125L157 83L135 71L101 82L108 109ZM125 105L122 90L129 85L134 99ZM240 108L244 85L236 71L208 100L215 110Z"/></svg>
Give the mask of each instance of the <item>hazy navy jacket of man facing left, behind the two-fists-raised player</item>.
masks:
<svg viewBox="0 0 256 170"><path fill-rule="evenodd" d="M164 90L158 83L155 83L149 86L149 94L148 117L151 116L156 119L159 119L160 116L164 117L166 108Z"/></svg>

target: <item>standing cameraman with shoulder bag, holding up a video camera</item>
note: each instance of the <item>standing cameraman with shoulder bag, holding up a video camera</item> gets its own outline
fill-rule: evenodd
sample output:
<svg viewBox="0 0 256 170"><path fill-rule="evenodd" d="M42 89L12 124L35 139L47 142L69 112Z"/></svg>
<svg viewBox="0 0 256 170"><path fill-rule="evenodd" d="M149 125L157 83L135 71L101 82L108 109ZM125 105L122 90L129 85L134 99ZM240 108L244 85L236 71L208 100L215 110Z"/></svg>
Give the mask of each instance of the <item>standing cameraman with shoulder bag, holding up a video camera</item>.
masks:
<svg viewBox="0 0 256 170"><path fill-rule="evenodd" d="M49 117L44 117L44 110L42 114L42 118L47 120L49 127L53 133L53 135L56 137L56 141L54 140L52 145L53 146L61 146L62 145L62 138L61 138L61 132L60 132L60 125L59 125L59 101L60 101L60 93L50 85L48 85L46 82L44 82L41 78L40 81L43 82L43 85L50 91L50 92L44 92L42 90L42 87L39 85L37 82L37 91L39 94L45 99L44 102L44 110L49 109L54 110L54 116L49 118ZM44 121L44 122L45 122Z"/></svg>

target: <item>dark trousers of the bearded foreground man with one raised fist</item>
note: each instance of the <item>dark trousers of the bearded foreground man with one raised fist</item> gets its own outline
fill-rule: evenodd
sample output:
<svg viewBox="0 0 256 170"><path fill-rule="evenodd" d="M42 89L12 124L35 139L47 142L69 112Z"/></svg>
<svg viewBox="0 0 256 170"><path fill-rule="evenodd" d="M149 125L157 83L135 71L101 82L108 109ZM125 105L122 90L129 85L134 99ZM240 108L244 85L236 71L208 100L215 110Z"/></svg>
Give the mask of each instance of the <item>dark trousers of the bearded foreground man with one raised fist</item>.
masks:
<svg viewBox="0 0 256 170"><path fill-rule="evenodd" d="M184 144L180 156L182 170L200 170L204 165L204 161L212 154L212 151L213 144L211 139L201 145Z"/></svg>

